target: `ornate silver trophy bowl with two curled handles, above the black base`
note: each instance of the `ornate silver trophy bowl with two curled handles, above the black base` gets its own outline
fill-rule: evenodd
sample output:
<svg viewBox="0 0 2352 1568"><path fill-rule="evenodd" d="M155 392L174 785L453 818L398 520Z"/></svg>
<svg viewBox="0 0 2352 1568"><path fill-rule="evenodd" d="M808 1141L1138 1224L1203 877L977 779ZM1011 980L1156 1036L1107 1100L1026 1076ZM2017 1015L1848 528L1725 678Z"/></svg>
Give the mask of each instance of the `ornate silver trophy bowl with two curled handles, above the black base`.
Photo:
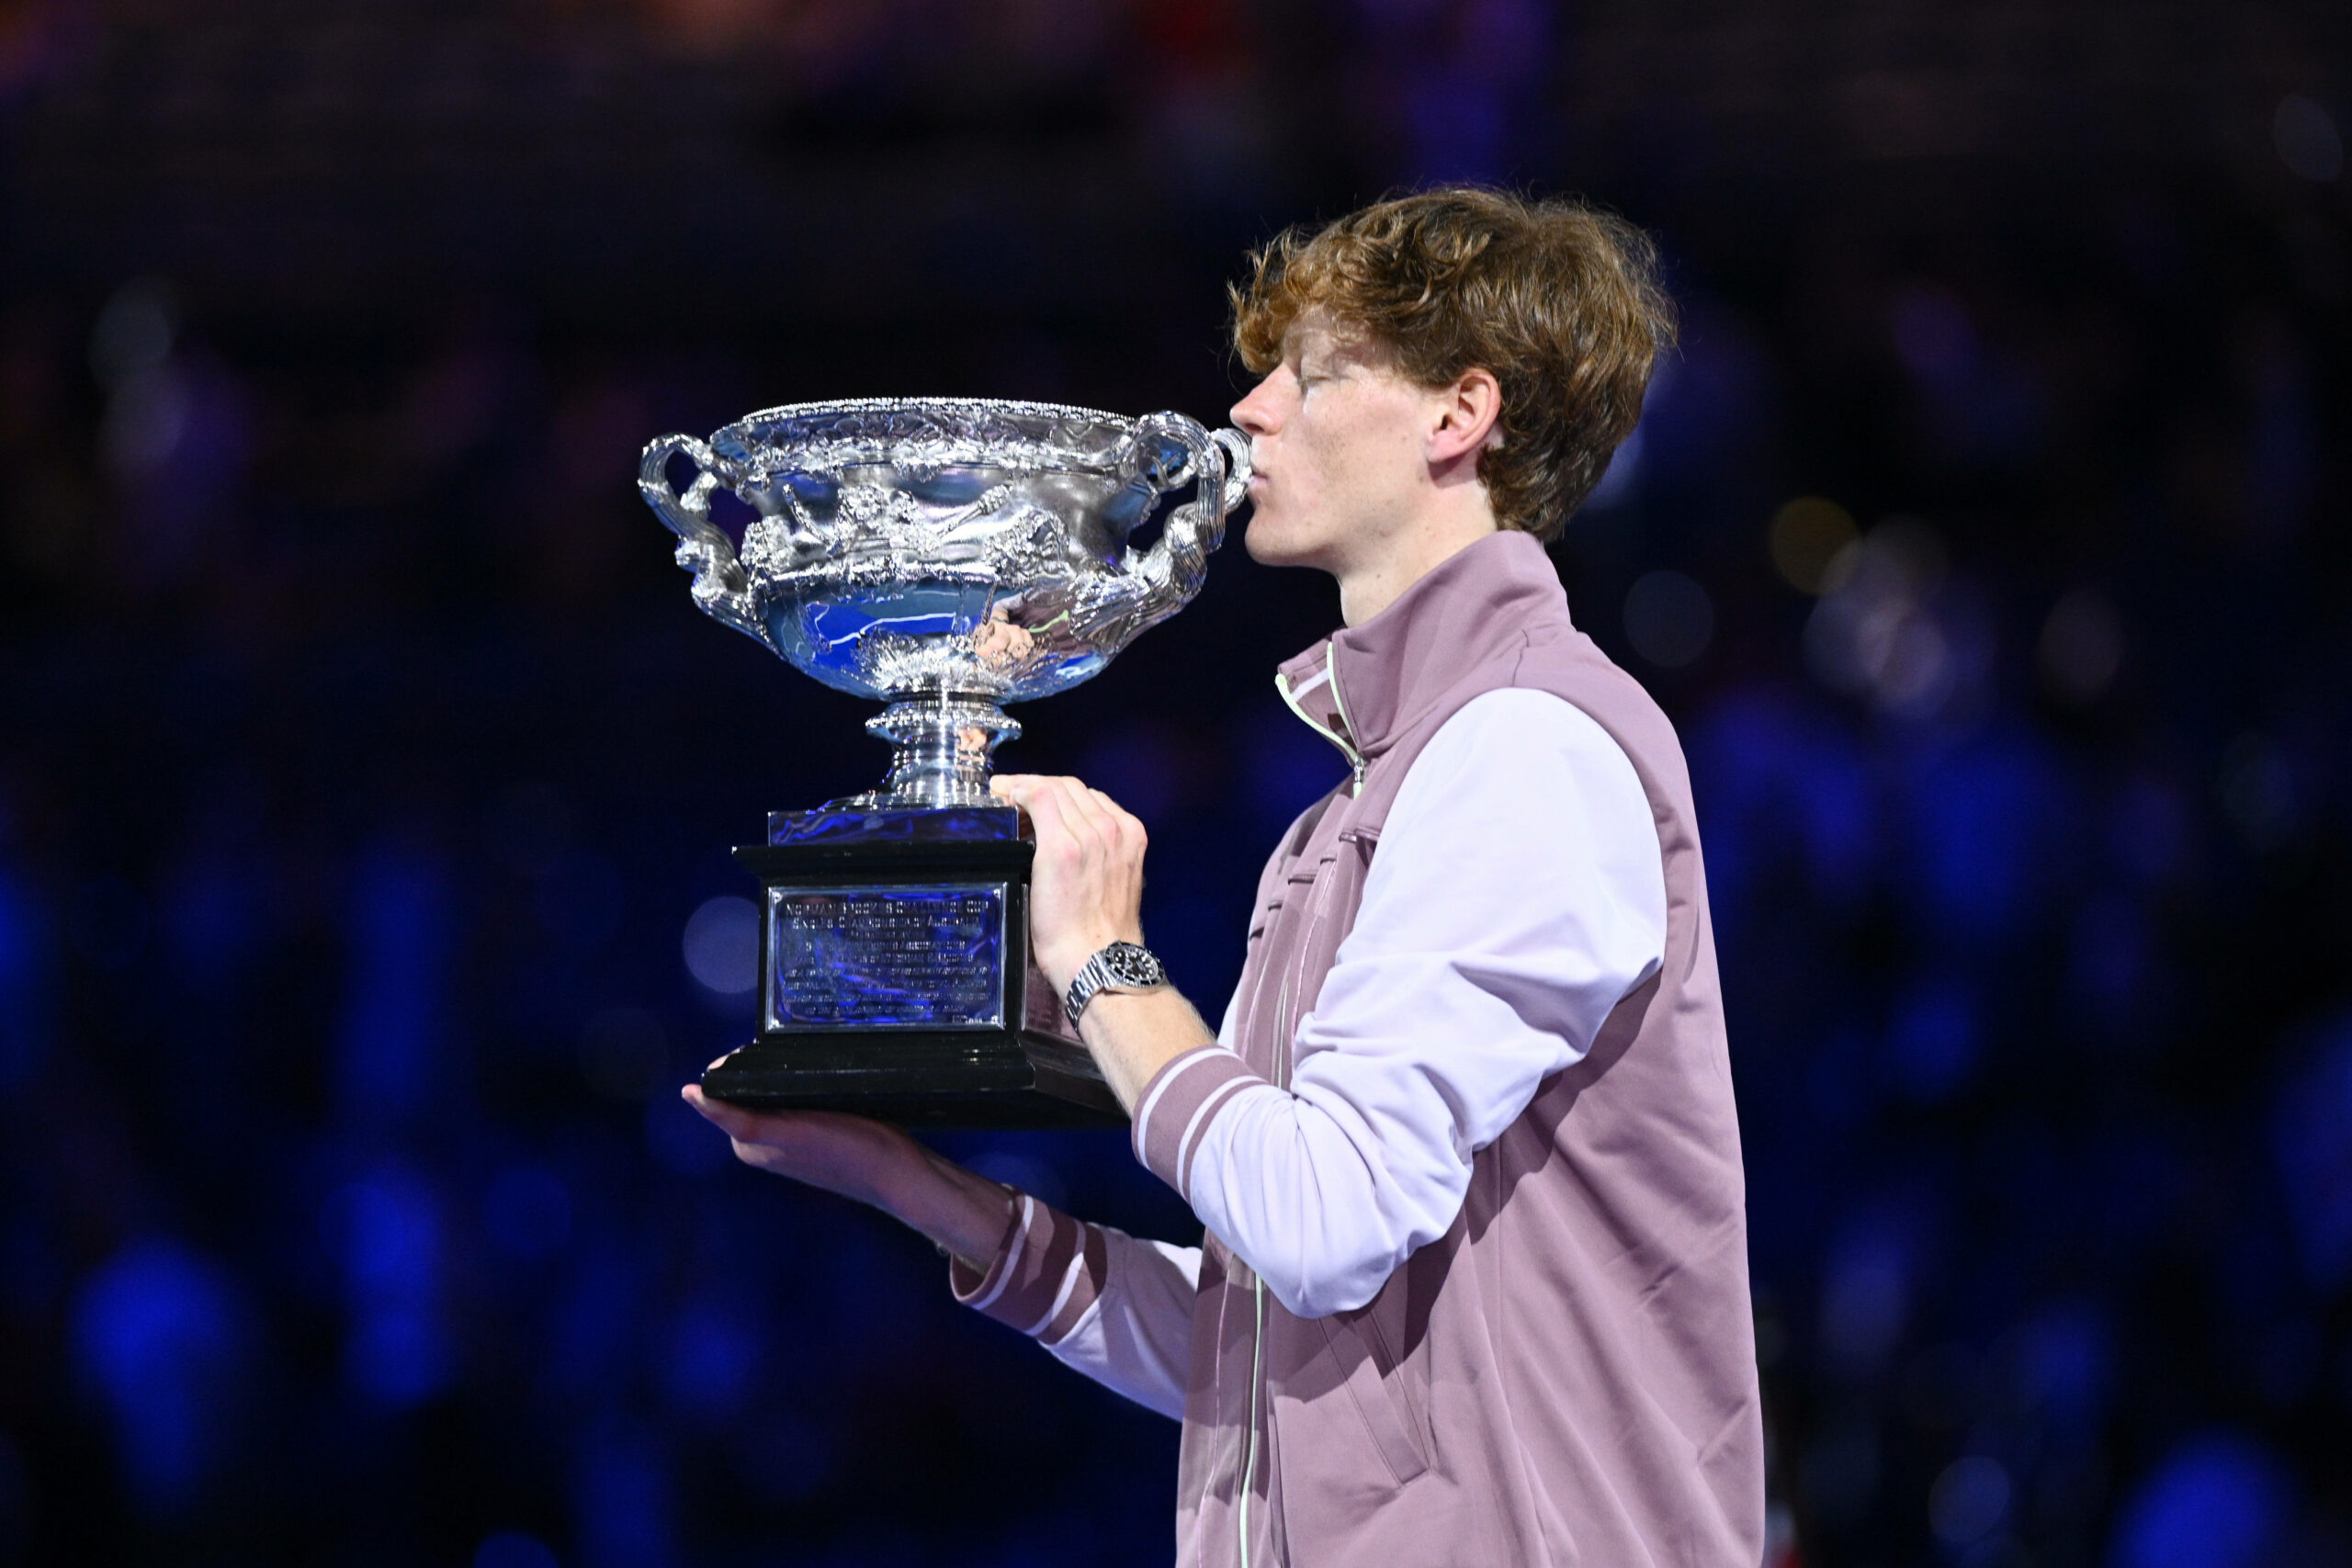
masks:
<svg viewBox="0 0 2352 1568"><path fill-rule="evenodd" d="M788 404L666 435L637 473L706 614L891 705L868 729L898 757L861 804L929 806L988 799L988 752L1018 733L1002 703L1096 675L1200 592L1247 482L1237 430L978 397ZM710 520L717 487L755 512L741 548Z"/></svg>

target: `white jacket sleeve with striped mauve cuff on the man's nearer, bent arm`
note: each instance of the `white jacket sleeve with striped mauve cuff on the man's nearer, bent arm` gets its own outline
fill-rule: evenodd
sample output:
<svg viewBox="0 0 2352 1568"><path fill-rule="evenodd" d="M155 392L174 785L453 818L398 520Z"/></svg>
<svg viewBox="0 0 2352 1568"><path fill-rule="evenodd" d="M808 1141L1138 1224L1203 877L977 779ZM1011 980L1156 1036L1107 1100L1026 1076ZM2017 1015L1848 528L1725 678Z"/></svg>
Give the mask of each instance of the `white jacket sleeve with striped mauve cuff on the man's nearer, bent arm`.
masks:
<svg viewBox="0 0 2352 1568"><path fill-rule="evenodd" d="M1289 1088L1202 1046L1145 1093L1136 1147L1190 1152L1178 1192L1284 1307L1362 1307L1663 954L1632 762L1557 696L1489 691L1414 759Z"/></svg>

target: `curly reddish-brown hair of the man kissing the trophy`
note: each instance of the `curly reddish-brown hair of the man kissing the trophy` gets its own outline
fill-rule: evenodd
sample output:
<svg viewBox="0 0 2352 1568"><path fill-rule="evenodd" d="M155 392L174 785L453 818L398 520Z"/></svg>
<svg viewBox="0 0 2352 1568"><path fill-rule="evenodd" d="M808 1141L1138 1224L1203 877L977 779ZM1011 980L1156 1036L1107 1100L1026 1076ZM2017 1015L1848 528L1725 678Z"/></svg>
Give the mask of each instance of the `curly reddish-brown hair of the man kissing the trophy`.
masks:
<svg viewBox="0 0 2352 1568"><path fill-rule="evenodd" d="M1658 254L1632 223L1578 202L1442 186L1291 228L1230 284L1232 343L1254 374L1310 310L1378 343L1406 378L1486 369L1501 442L1479 454L1494 517L1550 541L1642 416L1675 341Z"/></svg>

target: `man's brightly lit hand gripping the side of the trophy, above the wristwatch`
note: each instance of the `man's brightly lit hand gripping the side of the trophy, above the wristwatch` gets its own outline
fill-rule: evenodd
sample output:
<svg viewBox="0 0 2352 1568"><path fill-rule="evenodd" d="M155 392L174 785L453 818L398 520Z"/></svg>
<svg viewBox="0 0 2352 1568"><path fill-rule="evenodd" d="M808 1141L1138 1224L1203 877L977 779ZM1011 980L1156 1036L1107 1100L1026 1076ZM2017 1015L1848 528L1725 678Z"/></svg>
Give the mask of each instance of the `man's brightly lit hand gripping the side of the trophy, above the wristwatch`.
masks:
<svg viewBox="0 0 2352 1568"><path fill-rule="evenodd" d="M1143 823L1075 778L997 773L1000 797L1030 813L1030 950L1056 992L1110 943L1143 940Z"/></svg>

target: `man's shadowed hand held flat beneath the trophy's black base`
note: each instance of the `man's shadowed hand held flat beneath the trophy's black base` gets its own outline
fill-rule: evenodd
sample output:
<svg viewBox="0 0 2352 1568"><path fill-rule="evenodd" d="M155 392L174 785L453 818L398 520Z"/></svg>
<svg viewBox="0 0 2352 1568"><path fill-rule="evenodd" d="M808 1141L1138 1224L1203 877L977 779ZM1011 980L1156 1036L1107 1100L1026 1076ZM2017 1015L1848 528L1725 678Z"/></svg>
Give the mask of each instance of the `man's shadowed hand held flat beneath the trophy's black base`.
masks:
<svg viewBox="0 0 2352 1568"><path fill-rule="evenodd" d="M826 1110L750 1112L687 1084L680 1095L734 1143L736 1159L870 1204L976 1272L1011 1218L1011 1190L941 1159L906 1133Z"/></svg>

